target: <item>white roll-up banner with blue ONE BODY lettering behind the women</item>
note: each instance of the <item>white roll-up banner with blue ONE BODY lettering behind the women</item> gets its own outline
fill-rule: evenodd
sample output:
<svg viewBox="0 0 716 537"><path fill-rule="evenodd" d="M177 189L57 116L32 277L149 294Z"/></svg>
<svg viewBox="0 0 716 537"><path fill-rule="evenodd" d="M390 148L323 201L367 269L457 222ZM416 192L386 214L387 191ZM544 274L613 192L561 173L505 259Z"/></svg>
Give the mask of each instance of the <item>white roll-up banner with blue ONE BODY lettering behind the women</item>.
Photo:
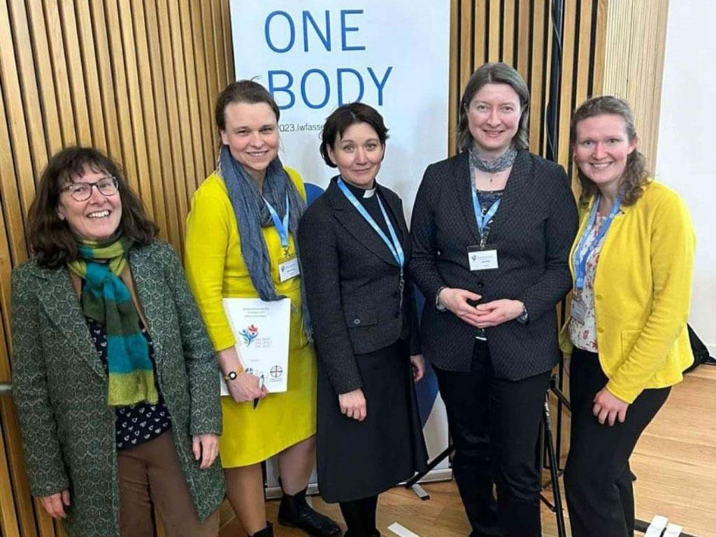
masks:
<svg viewBox="0 0 716 537"><path fill-rule="evenodd" d="M236 78L255 77L274 95L280 157L301 173L309 200L337 174L319 155L326 117L362 101L389 129L378 180L400 195L410 222L422 173L448 156L450 2L231 0L231 29ZM417 394L432 458L448 439L432 370ZM268 469L274 488L275 461Z"/></svg>

